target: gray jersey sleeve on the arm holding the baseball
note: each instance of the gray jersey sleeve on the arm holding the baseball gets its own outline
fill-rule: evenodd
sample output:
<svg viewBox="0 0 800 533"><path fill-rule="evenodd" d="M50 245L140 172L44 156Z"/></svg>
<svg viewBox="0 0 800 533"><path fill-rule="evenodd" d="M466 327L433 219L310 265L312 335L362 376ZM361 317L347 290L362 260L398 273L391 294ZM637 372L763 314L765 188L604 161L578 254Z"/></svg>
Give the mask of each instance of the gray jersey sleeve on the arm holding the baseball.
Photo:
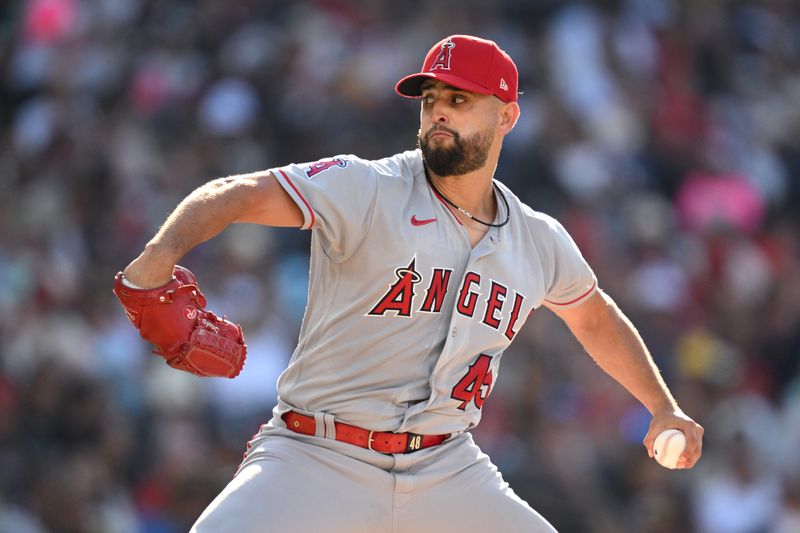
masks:
<svg viewBox="0 0 800 533"><path fill-rule="evenodd" d="M564 226L553 218L549 222L552 255L548 258L550 284L545 302L573 307L597 290L597 278Z"/></svg>

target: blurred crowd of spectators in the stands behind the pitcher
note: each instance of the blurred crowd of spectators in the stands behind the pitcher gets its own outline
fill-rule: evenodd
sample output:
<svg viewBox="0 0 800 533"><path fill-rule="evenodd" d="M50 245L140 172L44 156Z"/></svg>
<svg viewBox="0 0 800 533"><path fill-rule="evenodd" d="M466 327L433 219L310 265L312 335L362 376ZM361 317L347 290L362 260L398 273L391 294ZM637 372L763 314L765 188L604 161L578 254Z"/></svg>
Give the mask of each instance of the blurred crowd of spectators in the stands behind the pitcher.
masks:
<svg viewBox="0 0 800 533"><path fill-rule="evenodd" d="M707 430L692 471L648 459L646 411L542 310L485 451L562 532L800 531L796 2L28 0L0 4L1 532L188 529L270 416L308 234L183 261L244 325L232 381L150 356L114 273L207 180L412 148L393 86L449 33L515 58L497 178L567 226Z"/></svg>

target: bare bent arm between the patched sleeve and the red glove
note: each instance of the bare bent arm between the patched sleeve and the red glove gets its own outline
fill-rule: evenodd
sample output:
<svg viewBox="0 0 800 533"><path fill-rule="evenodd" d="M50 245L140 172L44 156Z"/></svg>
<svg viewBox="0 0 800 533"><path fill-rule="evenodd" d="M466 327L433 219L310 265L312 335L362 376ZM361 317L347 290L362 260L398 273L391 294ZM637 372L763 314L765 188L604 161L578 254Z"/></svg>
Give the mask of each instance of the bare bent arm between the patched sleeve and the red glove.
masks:
<svg viewBox="0 0 800 533"><path fill-rule="evenodd" d="M237 222L300 227L303 215L269 172L210 181L178 204L125 268L125 277L141 287L161 286L172 279L172 268L189 250Z"/></svg>

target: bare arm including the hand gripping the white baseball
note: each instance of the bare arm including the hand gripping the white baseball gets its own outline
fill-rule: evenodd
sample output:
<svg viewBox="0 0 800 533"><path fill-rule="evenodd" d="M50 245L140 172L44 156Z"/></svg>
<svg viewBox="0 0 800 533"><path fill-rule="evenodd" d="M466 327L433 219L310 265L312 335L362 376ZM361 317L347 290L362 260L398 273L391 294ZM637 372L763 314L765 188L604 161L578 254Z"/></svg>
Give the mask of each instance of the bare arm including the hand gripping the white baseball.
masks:
<svg viewBox="0 0 800 533"><path fill-rule="evenodd" d="M653 456L653 441L668 428L686 434L679 468L691 468L702 453L703 428L678 407L633 324L602 291L569 309L550 306L608 375L639 400L653 419L644 445Z"/></svg>

